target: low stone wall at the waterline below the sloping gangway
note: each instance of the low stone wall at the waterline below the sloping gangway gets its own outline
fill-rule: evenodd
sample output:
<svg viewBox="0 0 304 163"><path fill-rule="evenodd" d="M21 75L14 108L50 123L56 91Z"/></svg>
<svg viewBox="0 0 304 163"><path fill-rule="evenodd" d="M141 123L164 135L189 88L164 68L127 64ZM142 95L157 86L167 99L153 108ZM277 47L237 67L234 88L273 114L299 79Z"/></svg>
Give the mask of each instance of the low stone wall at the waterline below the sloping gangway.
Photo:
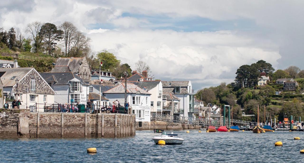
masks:
<svg viewBox="0 0 304 163"><path fill-rule="evenodd" d="M142 122L141 127L139 127L138 122L136 122L136 130L154 130L154 129L163 129L163 130L192 130L200 129L199 125L192 124L182 124L176 122L166 122L166 121L151 121L151 122Z"/></svg>

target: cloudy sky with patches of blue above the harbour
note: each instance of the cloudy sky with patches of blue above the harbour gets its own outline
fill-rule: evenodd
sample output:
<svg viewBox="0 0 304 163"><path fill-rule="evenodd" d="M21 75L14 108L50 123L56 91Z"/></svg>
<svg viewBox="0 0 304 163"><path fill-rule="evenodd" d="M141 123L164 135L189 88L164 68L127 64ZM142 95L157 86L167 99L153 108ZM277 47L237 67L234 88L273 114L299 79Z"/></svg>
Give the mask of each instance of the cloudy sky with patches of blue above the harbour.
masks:
<svg viewBox="0 0 304 163"><path fill-rule="evenodd" d="M265 60L304 69L304 1L10 0L0 27L25 31L33 21L72 22L95 52L113 53L154 79L191 80L193 88L233 82L238 67Z"/></svg>

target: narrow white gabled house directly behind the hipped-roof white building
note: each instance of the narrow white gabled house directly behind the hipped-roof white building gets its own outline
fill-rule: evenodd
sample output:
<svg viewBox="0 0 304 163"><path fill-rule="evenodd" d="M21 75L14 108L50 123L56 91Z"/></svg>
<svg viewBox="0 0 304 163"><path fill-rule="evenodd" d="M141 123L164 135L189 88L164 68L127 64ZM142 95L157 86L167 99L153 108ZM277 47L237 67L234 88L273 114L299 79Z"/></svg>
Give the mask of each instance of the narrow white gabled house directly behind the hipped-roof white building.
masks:
<svg viewBox="0 0 304 163"><path fill-rule="evenodd" d="M163 109L163 85L160 80L157 81L147 81L141 79L140 81L128 82L133 83L137 87L151 93L150 101L151 101L151 113L162 114Z"/></svg>

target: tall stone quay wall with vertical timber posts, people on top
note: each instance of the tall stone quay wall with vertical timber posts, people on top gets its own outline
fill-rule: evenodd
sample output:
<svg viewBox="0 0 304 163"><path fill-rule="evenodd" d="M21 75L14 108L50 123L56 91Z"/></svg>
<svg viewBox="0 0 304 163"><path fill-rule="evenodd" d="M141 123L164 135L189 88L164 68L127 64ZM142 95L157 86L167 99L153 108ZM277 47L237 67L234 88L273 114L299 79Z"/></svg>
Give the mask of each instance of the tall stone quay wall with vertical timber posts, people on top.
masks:
<svg viewBox="0 0 304 163"><path fill-rule="evenodd" d="M135 128L135 116L128 114L0 110L0 138L126 137Z"/></svg>

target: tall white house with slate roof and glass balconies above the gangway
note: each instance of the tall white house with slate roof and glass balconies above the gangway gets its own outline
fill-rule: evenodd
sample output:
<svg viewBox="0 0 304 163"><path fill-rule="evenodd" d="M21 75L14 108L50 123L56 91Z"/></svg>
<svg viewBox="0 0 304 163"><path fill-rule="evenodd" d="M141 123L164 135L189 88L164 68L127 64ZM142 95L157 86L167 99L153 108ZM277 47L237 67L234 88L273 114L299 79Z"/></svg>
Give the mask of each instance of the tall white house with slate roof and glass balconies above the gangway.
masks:
<svg viewBox="0 0 304 163"><path fill-rule="evenodd" d="M163 84L163 93L171 93L180 99L180 109L173 115L193 117L194 111L194 90L191 81L161 81Z"/></svg>

